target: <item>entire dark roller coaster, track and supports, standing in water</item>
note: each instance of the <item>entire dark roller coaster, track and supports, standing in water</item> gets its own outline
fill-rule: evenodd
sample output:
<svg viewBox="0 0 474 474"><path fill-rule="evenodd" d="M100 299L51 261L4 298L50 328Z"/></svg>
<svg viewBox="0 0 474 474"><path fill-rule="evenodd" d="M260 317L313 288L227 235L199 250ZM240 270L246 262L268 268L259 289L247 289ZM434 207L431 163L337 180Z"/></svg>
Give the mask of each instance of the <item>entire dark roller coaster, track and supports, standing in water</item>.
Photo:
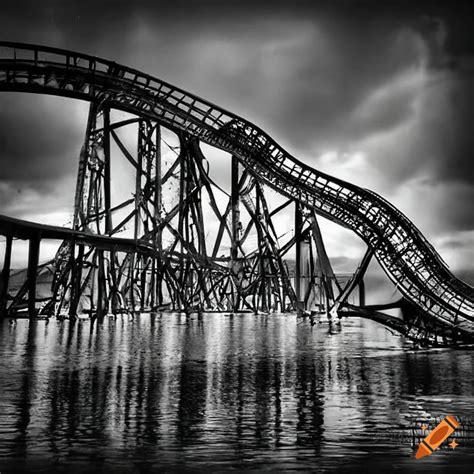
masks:
<svg viewBox="0 0 474 474"><path fill-rule="evenodd" d="M115 62L38 45L0 43L0 91L90 103L72 228L0 217L3 314L22 308L30 317L70 318L164 309L313 310L330 319L373 319L420 344L474 342L474 289L452 275L406 216L376 193L297 160L249 121ZM115 111L127 118L114 122ZM136 133L134 152L120 137L126 127ZM165 131L179 146L166 143ZM201 144L231 155L230 193L212 179ZM119 153L134 173L134 189L113 202L111 163ZM171 188L177 202L167 197ZM266 198L271 190L284 198L275 209ZM228 198L224 209L219 193ZM218 223L212 245L205 205ZM295 228L282 243L273 220L288 206ZM345 281L332 270L318 216L367 245ZM121 237L127 227L132 235ZM256 242L249 250L252 232ZM15 239L29 241L28 268L17 288L10 268ZM44 239L62 243L53 261L39 265ZM285 259L290 249L294 270ZM361 291L357 304L349 302L372 257L400 292L398 301L366 305ZM37 283L46 267L51 291L39 304Z"/></svg>

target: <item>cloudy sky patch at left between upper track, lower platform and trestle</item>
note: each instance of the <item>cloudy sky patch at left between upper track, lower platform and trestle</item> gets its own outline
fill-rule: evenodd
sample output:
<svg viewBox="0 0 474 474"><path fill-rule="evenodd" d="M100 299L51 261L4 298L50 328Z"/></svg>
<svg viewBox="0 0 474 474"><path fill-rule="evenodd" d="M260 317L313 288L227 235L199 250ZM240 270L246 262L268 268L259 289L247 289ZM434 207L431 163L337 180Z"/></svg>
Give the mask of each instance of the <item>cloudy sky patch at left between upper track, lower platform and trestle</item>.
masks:
<svg viewBox="0 0 474 474"><path fill-rule="evenodd" d="M0 94L0 213L35 220L72 206L87 108L78 101Z"/></svg>

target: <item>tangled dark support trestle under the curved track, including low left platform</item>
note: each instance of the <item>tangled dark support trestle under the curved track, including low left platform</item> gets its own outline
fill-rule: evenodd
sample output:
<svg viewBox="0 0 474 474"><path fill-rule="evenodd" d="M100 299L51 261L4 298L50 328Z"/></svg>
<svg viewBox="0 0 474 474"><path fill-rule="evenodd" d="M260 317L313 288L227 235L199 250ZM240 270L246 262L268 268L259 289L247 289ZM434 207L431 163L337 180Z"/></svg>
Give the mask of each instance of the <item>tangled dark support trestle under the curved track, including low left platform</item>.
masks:
<svg viewBox="0 0 474 474"><path fill-rule="evenodd" d="M316 213L292 199L269 205L266 186L235 156L228 160L226 192L211 178L198 140L179 133L179 146L173 147L162 139L159 123L139 117L111 121L111 115L106 103L90 107L72 230L0 218L0 231L7 236L4 313L27 307L30 315L68 317L165 309L329 315L361 284L359 272L343 292ZM130 150L121 136L134 133L137 146ZM134 189L113 202L112 167L119 160L131 166ZM294 209L294 231L281 238L273 219L288 207ZM210 239L209 225L216 223ZM127 238L121 237L125 230ZM9 297L13 238L29 240L29 257L24 284ZM40 242L51 238L62 244L48 262L51 298L38 302ZM294 255L294 269L287 264L288 254Z"/></svg>

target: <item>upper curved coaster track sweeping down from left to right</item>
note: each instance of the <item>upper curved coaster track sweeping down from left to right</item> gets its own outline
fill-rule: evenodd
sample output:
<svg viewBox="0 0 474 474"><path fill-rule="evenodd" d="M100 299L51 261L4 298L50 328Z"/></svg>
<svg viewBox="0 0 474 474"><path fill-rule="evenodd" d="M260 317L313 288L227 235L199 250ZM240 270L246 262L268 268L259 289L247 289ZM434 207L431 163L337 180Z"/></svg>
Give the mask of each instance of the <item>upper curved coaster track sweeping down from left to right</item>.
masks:
<svg viewBox="0 0 474 474"><path fill-rule="evenodd" d="M280 193L359 235L425 317L474 336L474 289L450 273L406 216L377 194L308 167L243 118L114 62L18 43L0 43L0 90L107 103L235 155Z"/></svg>

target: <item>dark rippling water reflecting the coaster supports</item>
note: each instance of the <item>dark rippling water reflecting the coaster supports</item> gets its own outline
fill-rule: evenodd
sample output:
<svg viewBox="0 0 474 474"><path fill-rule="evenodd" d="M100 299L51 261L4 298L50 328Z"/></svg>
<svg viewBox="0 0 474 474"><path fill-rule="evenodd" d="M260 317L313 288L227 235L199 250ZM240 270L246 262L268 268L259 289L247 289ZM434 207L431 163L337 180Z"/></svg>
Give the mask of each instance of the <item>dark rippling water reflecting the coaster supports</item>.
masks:
<svg viewBox="0 0 474 474"><path fill-rule="evenodd" d="M5 320L0 471L471 474L473 367L364 320ZM415 460L447 414L459 446Z"/></svg>

